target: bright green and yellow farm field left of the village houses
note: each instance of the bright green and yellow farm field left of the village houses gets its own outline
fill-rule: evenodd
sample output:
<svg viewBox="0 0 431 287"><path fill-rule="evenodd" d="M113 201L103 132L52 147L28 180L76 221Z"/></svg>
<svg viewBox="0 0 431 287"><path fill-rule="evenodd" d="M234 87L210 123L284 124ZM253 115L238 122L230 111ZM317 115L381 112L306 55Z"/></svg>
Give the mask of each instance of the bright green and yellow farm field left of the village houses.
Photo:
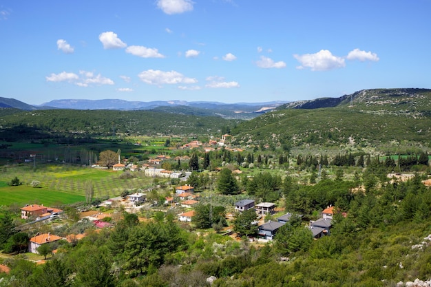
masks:
<svg viewBox="0 0 431 287"><path fill-rule="evenodd" d="M107 198L119 195L125 189L146 189L152 178L134 172L135 178L121 178L123 171L93 169L69 164L39 164L35 171L32 164L3 167L0 177L0 204L70 204L85 201L85 182L91 182L94 198ZM22 185L10 187L8 182L19 178ZM31 187L33 180L39 187Z"/></svg>

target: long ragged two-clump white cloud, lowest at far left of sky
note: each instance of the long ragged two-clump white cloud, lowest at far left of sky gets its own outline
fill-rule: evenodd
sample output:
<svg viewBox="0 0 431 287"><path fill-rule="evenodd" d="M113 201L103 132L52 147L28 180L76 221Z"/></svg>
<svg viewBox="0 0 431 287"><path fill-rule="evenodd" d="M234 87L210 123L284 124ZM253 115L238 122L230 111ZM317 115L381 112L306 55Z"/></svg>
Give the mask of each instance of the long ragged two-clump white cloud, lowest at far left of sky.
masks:
<svg viewBox="0 0 431 287"><path fill-rule="evenodd" d="M79 75L75 73L61 72L60 74L51 74L45 77L48 82L67 82L74 83L79 87L88 87L91 84L96 85L114 85L114 81L110 78L105 78L98 74L94 76L93 72L79 71Z"/></svg>

